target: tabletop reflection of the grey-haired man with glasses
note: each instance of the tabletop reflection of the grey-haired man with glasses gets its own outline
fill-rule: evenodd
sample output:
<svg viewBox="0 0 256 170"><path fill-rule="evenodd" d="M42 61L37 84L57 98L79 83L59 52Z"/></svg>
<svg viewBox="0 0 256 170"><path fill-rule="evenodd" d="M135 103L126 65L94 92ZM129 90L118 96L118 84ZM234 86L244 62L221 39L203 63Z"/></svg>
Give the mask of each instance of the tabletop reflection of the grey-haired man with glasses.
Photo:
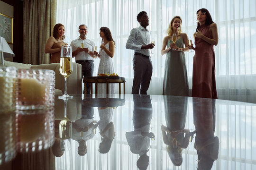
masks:
<svg viewBox="0 0 256 170"><path fill-rule="evenodd" d="M86 141L94 137L94 123L93 120L94 109L89 106L82 106L82 118L75 120L72 124L72 139L79 143L77 152L80 156L87 153Z"/></svg>

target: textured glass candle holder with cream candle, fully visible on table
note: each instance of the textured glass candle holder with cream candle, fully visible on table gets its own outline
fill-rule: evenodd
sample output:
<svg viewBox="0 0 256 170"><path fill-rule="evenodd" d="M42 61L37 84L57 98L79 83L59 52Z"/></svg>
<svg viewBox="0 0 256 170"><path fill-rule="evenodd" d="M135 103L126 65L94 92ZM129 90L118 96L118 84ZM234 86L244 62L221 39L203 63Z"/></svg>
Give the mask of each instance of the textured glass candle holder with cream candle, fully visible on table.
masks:
<svg viewBox="0 0 256 170"><path fill-rule="evenodd" d="M48 69L18 69L18 110L44 109L54 106L55 72Z"/></svg>

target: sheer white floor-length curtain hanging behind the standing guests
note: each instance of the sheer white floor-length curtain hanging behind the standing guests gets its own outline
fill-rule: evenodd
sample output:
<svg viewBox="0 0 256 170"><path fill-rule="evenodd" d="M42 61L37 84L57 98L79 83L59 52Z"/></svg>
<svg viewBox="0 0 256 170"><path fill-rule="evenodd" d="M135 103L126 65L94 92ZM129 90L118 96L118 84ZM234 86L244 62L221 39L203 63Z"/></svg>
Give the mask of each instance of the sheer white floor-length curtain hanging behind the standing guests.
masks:
<svg viewBox="0 0 256 170"><path fill-rule="evenodd" d="M66 28L66 41L79 36L78 26L88 26L88 38L99 49L99 28L110 28L116 41L114 67L126 78L126 93L131 93L133 51L125 44L132 28L139 26L137 13L145 10L149 16L151 37L155 48L151 59L153 75L148 94L162 94L165 56L161 46L171 19L183 19L182 30L189 37L196 29L196 11L207 8L218 25L219 44L215 46L216 83L219 99L256 102L256 1L255 0L58 0L57 23ZM189 86L192 88L194 52L186 52ZM99 59L95 61L95 73Z"/></svg>

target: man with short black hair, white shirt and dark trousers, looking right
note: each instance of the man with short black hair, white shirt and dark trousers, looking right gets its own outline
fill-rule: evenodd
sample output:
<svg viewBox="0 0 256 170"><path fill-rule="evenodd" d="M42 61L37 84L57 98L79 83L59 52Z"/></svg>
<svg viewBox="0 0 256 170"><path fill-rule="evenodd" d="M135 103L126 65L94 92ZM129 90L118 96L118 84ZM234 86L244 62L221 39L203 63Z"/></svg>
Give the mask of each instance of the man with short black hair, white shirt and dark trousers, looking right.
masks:
<svg viewBox="0 0 256 170"><path fill-rule="evenodd" d="M137 15L140 26L133 28L126 42L126 49L134 50L133 56L133 86L132 94L146 94L152 76L152 61L149 49L154 48L150 42L150 34L146 27L149 25L148 16L145 11Z"/></svg>

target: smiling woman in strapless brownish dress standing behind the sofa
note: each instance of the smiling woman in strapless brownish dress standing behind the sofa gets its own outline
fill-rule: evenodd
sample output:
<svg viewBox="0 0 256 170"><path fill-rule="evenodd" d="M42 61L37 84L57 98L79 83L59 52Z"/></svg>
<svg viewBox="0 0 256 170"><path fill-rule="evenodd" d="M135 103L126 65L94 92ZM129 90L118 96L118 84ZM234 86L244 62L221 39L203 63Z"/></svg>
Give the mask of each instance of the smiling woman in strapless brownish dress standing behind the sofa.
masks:
<svg viewBox="0 0 256 170"><path fill-rule="evenodd" d="M53 29L53 36L50 36L46 42L45 53L51 53L50 63L60 62L61 46L65 45L65 27L62 24L56 24Z"/></svg>

